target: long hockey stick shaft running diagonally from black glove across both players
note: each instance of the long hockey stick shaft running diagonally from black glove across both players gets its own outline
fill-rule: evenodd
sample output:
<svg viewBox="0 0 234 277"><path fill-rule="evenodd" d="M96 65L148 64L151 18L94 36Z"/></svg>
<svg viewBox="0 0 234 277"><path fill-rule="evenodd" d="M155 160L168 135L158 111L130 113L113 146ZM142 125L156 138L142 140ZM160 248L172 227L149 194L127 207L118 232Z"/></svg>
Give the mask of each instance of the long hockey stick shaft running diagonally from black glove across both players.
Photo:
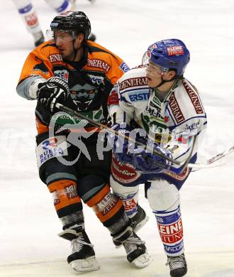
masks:
<svg viewBox="0 0 234 277"><path fill-rule="evenodd" d="M108 126L106 126L106 125L104 125L104 124L101 124L101 123L99 123L99 122L96 122L96 121L94 121L93 119L90 119L89 117L84 116L83 114L80 114L79 112L75 112L75 111L73 111L73 109L69 109L68 107L66 107L66 106L64 106L64 105L62 105L62 104L60 104L60 103L57 103L55 106L56 106L58 109L60 109L62 112L67 112L67 114L69 114L69 115L71 115L71 116L76 116L76 117L78 117L79 119L87 120L90 124L92 124L92 125L95 126L95 127L98 127L99 129L103 129L103 130L109 131L109 132L115 134L116 136L121 136L123 139L126 139L126 140L128 140L128 141L131 141L131 142L135 143L135 144L138 145L138 146L147 147L144 143L141 143L140 141L135 141L135 140L131 139L130 137L125 136L124 134L121 134L120 132L111 129L111 128L109 128ZM150 148L149 148L149 149L150 149ZM153 153L155 153L155 155L160 156L160 157L162 157L162 158L165 158L165 160L171 161L172 163L175 163L175 164L177 164L177 165L184 165L184 164L186 164L186 163L189 163L189 159L191 158L191 157L189 157L188 160L186 160L186 161L184 161L184 162L179 162L179 161L177 161L177 160L174 160L173 158L169 158L169 157L163 155L162 153L156 151L155 149L150 149L150 151L152 151ZM160 164L159 164L159 165L160 165Z"/></svg>

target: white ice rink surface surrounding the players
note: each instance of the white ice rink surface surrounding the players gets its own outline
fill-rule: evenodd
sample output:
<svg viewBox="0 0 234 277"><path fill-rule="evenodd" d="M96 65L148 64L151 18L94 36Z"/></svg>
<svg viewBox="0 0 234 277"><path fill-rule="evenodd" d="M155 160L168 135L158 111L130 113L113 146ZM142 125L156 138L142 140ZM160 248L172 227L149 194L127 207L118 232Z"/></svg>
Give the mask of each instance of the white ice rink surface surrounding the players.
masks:
<svg viewBox="0 0 234 277"><path fill-rule="evenodd" d="M45 31L55 16L43 0L33 1ZM234 144L234 1L233 0L77 0L87 13L97 43L133 67L147 46L180 38L191 51L185 77L201 92L208 132L200 161ZM50 193L38 178L35 161L35 102L16 94L26 56L33 49L10 0L1 1L0 40L0 276L1 277L162 277L169 276L155 218L147 200L140 204L150 221L140 231L154 261L132 268L124 249L94 213L84 207L86 229L101 269L74 273L66 264L67 241L57 237L61 224ZM234 277L234 154L222 167L191 173L181 190L188 277Z"/></svg>

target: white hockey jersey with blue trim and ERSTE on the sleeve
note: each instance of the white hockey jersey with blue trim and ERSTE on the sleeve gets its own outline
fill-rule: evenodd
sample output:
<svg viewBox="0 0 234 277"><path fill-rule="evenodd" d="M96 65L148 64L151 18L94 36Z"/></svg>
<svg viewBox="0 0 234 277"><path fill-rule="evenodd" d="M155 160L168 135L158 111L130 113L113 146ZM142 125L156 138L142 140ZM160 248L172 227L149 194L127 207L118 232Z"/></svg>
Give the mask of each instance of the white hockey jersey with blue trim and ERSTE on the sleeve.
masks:
<svg viewBox="0 0 234 277"><path fill-rule="evenodd" d="M196 156L207 121L199 92L188 80L177 80L162 97L162 92L147 86L145 68L135 68L118 80L111 94L116 92L119 106L109 107L116 123L130 124L133 119L177 161ZM199 139L191 153L196 136ZM172 166L174 173L180 172L180 165Z"/></svg>

